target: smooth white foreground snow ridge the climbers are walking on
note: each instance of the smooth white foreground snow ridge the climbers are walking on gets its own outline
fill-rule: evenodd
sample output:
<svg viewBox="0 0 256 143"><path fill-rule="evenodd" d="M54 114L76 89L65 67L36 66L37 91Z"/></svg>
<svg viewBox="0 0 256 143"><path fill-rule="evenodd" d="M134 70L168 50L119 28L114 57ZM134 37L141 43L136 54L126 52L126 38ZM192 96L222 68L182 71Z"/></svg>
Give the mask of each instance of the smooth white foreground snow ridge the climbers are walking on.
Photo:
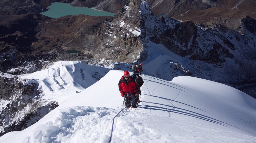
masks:
<svg viewBox="0 0 256 143"><path fill-rule="evenodd" d="M0 142L108 142L112 119L123 107L118 90L122 75L109 71L34 125L7 133ZM112 142L255 142L256 100L251 96L195 77L142 78L142 102L115 118ZM59 96L65 93L59 91Z"/></svg>

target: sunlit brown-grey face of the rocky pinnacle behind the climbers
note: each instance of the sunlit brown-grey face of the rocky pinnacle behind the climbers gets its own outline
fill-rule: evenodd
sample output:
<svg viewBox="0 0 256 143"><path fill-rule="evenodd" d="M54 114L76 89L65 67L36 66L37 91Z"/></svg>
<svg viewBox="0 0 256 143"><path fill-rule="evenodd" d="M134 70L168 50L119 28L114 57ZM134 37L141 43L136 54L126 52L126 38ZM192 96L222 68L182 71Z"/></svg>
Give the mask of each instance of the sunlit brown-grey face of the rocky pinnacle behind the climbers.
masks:
<svg viewBox="0 0 256 143"><path fill-rule="evenodd" d="M93 55L87 62L94 64L133 63L142 51L139 28L140 3L136 0L127 1L112 20L97 27L85 28L83 34L74 38L68 45L75 45L82 40L84 51Z"/></svg>

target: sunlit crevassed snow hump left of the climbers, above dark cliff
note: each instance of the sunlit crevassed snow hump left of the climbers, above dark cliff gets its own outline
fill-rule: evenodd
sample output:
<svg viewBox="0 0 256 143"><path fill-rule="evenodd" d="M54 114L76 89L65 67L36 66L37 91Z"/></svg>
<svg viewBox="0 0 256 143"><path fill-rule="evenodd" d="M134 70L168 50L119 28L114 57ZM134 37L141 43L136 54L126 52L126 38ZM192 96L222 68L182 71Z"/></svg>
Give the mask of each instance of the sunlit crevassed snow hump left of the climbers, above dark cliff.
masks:
<svg viewBox="0 0 256 143"><path fill-rule="evenodd" d="M45 70L21 78L35 79L39 83L39 89L43 91L42 98L50 99L56 94L64 93L61 98L65 99L68 94L79 93L88 88L109 70L108 68L90 66L82 61L61 61L55 62Z"/></svg>

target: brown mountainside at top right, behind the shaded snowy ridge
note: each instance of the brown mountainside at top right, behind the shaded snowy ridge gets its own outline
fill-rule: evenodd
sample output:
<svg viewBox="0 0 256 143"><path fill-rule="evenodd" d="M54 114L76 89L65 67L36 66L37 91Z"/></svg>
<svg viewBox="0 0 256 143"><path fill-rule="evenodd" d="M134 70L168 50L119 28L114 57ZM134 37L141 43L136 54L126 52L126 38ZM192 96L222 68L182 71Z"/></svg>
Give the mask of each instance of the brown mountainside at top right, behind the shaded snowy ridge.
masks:
<svg viewBox="0 0 256 143"><path fill-rule="evenodd" d="M253 19L256 18L256 1L253 0L146 0L146 2L158 17L165 13L167 17L211 26L222 24L232 30L237 30L242 17L250 15Z"/></svg>

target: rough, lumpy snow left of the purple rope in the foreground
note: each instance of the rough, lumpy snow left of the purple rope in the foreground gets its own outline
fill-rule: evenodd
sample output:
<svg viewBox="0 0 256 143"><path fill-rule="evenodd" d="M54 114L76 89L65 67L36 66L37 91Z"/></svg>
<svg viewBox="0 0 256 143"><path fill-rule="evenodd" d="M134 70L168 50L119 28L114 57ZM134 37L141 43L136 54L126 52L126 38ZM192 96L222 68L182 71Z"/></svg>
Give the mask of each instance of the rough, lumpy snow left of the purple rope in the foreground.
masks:
<svg viewBox="0 0 256 143"><path fill-rule="evenodd" d="M34 132L24 142L107 142L109 131L98 128L107 128L115 113L105 107L62 108L56 111L58 116L39 126L44 130Z"/></svg>

